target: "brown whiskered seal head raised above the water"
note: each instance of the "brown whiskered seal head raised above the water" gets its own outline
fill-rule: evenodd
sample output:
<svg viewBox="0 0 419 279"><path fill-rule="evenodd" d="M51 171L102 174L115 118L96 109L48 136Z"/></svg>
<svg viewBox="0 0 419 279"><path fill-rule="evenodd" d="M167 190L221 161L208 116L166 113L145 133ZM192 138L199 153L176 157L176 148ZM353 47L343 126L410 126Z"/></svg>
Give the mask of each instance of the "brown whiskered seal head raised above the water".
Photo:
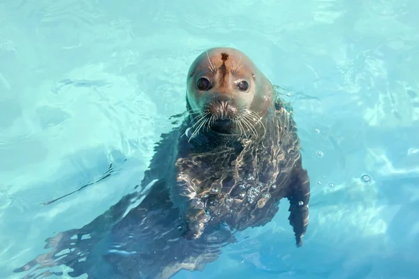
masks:
<svg viewBox="0 0 419 279"><path fill-rule="evenodd" d="M198 129L247 133L263 119L272 98L272 84L240 50L212 48L201 53L189 68L186 103L193 122L200 123Z"/></svg>

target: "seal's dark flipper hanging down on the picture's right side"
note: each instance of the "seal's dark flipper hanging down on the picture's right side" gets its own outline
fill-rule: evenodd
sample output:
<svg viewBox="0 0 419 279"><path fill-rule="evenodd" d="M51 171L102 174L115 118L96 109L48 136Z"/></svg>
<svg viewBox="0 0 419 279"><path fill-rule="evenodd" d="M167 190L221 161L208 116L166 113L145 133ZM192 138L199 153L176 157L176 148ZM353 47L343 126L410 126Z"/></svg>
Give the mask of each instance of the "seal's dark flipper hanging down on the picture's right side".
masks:
<svg viewBox="0 0 419 279"><path fill-rule="evenodd" d="M290 224L293 226L297 247L302 246L302 236L309 224L310 181L307 170L302 168L301 158L293 169L293 179L287 196L290 201Z"/></svg>

